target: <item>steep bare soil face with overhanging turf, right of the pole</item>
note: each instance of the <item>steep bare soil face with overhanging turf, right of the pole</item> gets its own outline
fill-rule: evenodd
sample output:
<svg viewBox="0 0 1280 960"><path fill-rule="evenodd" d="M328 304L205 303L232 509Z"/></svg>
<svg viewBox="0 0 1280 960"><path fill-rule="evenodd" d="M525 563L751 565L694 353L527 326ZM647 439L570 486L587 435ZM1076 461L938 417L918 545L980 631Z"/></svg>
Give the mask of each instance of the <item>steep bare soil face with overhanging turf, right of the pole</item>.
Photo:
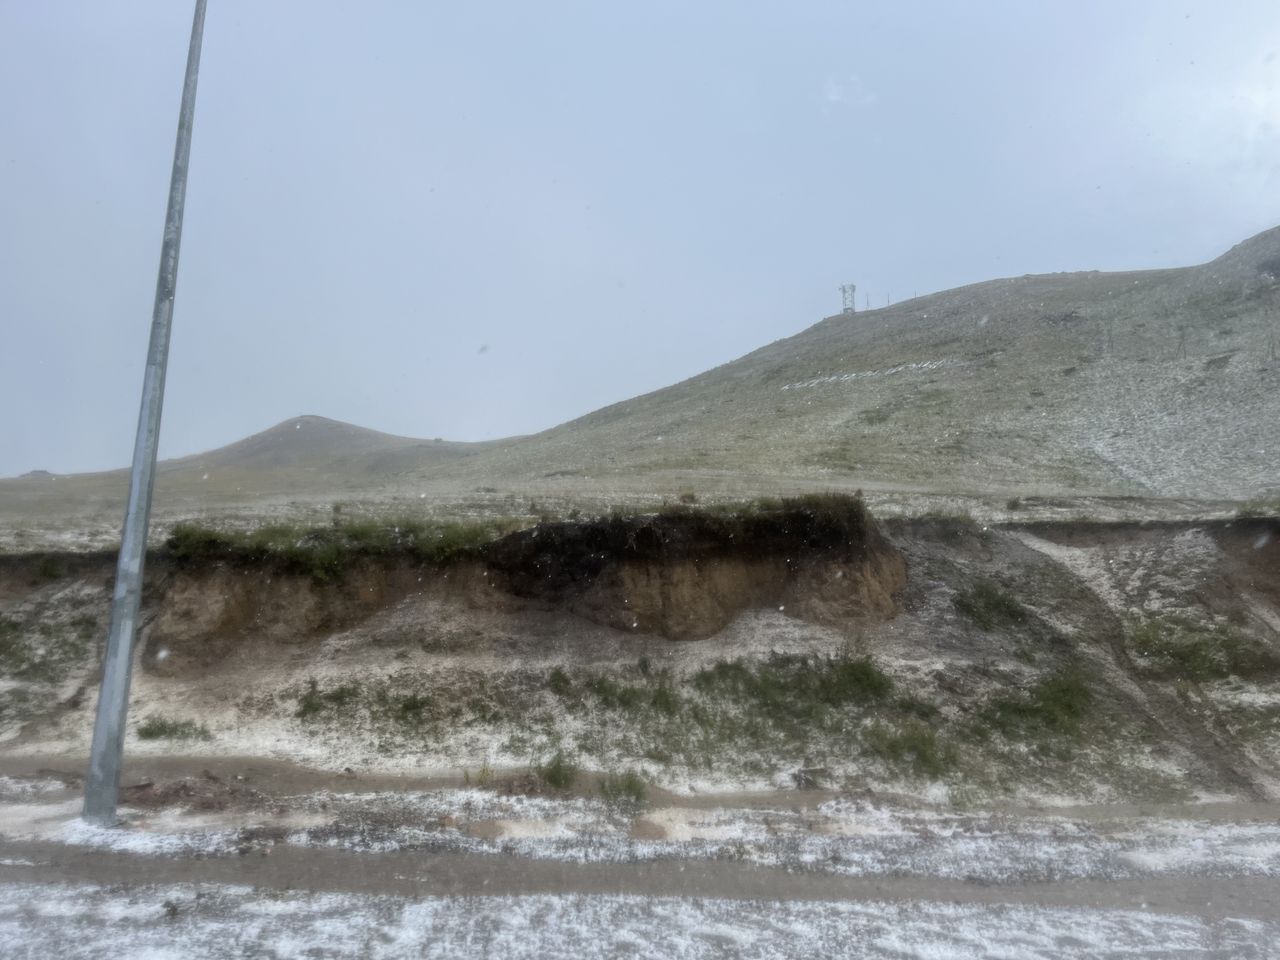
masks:
<svg viewBox="0 0 1280 960"><path fill-rule="evenodd" d="M667 640L712 636L760 607L832 626L876 622L897 612L906 566L849 500L748 517L685 511L541 524L449 563L365 556L325 579L270 559L168 562L160 582L147 664L173 671L218 659L248 635L305 643L410 596L567 612Z"/></svg>

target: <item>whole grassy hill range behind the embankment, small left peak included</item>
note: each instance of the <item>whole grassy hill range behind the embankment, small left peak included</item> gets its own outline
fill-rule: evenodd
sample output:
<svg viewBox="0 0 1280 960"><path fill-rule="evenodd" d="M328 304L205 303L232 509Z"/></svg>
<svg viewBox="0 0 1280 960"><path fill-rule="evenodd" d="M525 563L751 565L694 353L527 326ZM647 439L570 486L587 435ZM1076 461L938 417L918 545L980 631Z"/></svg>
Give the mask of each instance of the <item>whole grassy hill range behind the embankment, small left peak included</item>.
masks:
<svg viewBox="0 0 1280 960"><path fill-rule="evenodd" d="M1277 340L1280 228L1199 266L989 280L831 316L530 436L296 417L164 462L156 508L854 486L1247 499L1280 485ZM0 520L110 516L125 483L3 480Z"/></svg>

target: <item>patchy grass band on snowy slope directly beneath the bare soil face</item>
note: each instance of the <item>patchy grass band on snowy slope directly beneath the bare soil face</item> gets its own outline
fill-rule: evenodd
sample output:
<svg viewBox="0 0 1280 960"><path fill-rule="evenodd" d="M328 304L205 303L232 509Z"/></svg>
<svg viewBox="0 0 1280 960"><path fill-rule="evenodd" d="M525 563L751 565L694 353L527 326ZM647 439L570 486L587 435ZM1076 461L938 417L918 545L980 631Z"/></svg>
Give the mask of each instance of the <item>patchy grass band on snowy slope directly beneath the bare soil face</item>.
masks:
<svg viewBox="0 0 1280 960"><path fill-rule="evenodd" d="M951 758L937 707L895 695L874 662L852 654L723 660L685 676L648 660L609 673L476 672L447 687L404 671L364 684L311 680L285 698L306 727L361 731L384 754L465 739L468 730L502 733L507 755L550 758L532 772L556 790L564 788L561 774L576 768L571 756L598 769L648 760L754 777L850 756L933 777ZM879 732L869 726L877 722ZM611 781L608 790L637 792L631 781Z"/></svg>

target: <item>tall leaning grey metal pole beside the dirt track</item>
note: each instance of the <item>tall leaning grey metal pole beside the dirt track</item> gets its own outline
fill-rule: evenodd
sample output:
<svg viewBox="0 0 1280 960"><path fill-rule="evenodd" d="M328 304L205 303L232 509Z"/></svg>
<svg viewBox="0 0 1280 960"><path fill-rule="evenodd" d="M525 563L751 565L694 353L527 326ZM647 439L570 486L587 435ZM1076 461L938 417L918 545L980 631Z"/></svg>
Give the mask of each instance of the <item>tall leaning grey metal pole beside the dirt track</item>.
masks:
<svg viewBox="0 0 1280 960"><path fill-rule="evenodd" d="M160 410L164 406L164 375L169 361L173 297L178 285L178 246L182 241L182 211L187 198L187 163L191 159L191 122L196 110L196 74L200 70L200 42L205 32L205 1L196 0L196 17L191 27L187 78L178 113L178 143L173 151L173 177L169 180L169 211L165 214L164 242L160 246L160 276L156 280L156 303L151 314L151 344L147 348L147 370L142 378L138 434L133 443L129 502L124 512L120 559L115 568L115 591L111 596L111 632L108 635L102 660L102 689L97 698L93 748L84 782L84 819L96 823L115 822L120 792L124 719L129 708L133 639L138 630L138 605L142 600L142 567L151 520L156 447L160 443Z"/></svg>

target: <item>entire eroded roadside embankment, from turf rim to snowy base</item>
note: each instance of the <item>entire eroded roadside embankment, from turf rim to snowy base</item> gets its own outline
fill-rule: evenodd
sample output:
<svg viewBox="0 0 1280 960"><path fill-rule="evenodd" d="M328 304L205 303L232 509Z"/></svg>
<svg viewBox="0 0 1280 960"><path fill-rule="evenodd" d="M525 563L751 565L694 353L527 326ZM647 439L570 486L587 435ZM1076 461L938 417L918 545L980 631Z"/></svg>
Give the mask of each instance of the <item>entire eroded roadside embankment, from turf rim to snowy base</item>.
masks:
<svg viewBox="0 0 1280 960"><path fill-rule="evenodd" d="M397 771L563 750L676 790L804 768L959 796L1280 794L1274 520L881 527L828 500L314 559L218 538L152 557L131 750ZM10 744L82 749L113 566L0 557ZM148 719L186 739L143 740Z"/></svg>

